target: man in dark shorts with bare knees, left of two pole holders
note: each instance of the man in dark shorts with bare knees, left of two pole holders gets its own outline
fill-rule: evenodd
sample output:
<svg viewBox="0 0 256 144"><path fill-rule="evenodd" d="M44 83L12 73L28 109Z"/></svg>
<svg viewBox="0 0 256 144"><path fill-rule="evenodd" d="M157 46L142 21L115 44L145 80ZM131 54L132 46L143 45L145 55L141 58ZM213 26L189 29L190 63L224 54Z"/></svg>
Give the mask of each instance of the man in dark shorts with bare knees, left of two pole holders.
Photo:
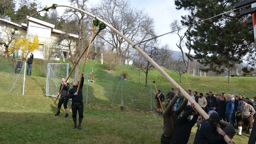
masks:
<svg viewBox="0 0 256 144"><path fill-rule="evenodd" d="M64 119L67 119L68 116L68 109L67 109L67 102L68 102L68 91L69 91L69 83L65 83L65 78L62 77L61 78L61 86L60 86L60 90L63 87L62 91L61 91L61 97L59 99L59 103L58 103L58 112L56 114L54 114L54 116L58 116L61 114L60 110L61 110L61 105L63 104L66 115L64 117ZM59 91L60 91L59 90ZM60 93L58 93L58 97L59 97Z"/></svg>

